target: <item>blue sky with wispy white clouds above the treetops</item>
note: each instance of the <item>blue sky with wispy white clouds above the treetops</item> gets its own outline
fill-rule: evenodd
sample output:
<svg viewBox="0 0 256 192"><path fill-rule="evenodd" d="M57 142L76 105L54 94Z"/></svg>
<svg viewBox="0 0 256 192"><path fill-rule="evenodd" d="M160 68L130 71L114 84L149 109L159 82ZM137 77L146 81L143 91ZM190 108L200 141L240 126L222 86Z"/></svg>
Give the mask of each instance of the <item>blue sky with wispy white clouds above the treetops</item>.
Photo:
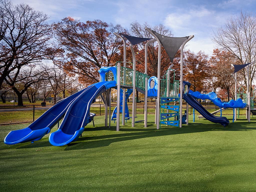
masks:
<svg viewBox="0 0 256 192"><path fill-rule="evenodd" d="M49 23L71 16L87 20L100 19L129 28L137 20L154 26L163 24L175 37L195 35L186 48L211 55L216 45L211 41L217 26L223 26L230 16L255 13L255 0L187 1L187 0L13 0L26 3L50 16Z"/></svg>

